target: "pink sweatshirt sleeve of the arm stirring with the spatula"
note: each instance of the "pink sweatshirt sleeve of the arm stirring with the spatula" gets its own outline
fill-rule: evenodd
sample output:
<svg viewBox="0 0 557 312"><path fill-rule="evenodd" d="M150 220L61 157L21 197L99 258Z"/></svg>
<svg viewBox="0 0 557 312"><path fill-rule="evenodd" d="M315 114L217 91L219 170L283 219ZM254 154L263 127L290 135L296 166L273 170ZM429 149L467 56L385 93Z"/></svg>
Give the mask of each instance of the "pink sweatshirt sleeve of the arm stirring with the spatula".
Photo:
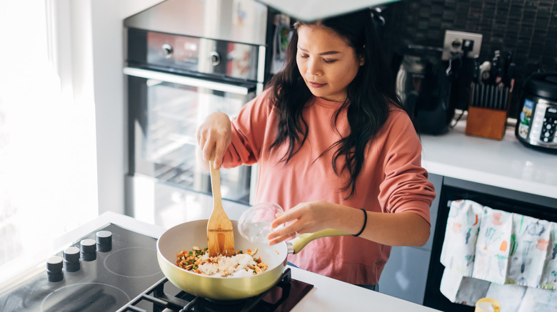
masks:
<svg viewBox="0 0 557 312"><path fill-rule="evenodd" d="M223 167L253 165L259 160L267 123L272 113L269 90L249 101L231 120L232 141L223 159Z"/></svg>

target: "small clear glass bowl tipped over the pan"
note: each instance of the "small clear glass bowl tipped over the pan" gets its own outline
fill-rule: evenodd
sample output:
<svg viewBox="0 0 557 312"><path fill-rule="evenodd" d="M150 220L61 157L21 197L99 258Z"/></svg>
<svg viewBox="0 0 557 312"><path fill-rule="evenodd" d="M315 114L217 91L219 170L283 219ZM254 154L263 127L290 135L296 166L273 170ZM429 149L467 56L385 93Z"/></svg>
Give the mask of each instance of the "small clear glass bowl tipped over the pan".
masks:
<svg viewBox="0 0 557 312"><path fill-rule="evenodd" d="M283 224L271 228L271 222L282 214L284 210L274 202L262 202L242 212L238 219L238 232L244 239L252 243L269 243L267 235L276 229L284 227Z"/></svg>

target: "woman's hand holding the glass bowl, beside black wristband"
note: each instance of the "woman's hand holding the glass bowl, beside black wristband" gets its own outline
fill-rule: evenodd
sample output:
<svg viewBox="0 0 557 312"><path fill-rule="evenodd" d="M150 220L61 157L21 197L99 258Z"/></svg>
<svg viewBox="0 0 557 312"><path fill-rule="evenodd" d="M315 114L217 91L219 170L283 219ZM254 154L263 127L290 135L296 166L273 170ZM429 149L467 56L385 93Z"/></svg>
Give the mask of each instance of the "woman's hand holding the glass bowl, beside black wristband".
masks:
<svg viewBox="0 0 557 312"><path fill-rule="evenodd" d="M273 228L281 224L284 224L285 227L277 229L267 236L269 245L278 244L299 234L334 228L338 225L338 217L341 216L343 209L351 208L331 202L303 202L297 204L296 207L288 209L271 223Z"/></svg>

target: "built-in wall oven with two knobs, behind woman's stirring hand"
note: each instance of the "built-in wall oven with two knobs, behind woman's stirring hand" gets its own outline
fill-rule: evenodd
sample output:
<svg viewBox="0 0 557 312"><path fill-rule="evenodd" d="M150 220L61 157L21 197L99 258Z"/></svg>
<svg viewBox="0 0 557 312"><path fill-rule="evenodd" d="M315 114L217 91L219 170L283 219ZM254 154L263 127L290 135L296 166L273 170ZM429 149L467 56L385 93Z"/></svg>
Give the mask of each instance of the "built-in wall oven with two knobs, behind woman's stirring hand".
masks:
<svg viewBox="0 0 557 312"><path fill-rule="evenodd" d="M255 97L256 80L230 78L234 71L241 71L238 68L244 62L237 55L231 56L231 51L245 51L245 66L256 68L259 48L135 29L130 29L128 36L131 40L146 39L149 47L147 64L137 59L136 51L130 51L129 66L124 68L133 138L129 141L129 151L133 152L129 172L211 192L209 173L196 167L196 129L210 113L219 111L233 117ZM209 57L199 57L203 48ZM165 64L168 67L164 68ZM214 73L201 73L200 68ZM198 73L194 76L187 70ZM222 71L224 76L219 73ZM223 197L249 202L249 180L248 166L221 170Z"/></svg>

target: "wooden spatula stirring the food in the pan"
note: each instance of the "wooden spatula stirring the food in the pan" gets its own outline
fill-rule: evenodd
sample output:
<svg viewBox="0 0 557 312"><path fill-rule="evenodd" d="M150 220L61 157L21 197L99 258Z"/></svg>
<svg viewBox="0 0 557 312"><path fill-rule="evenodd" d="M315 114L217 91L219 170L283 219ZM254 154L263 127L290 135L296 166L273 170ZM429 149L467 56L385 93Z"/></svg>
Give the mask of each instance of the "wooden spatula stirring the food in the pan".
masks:
<svg viewBox="0 0 557 312"><path fill-rule="evenodd" d="M213 188L213 212L207 224L209 256L234 256L234 232L232 222L224 212L221 198L221 172L214 169L215 155L211 155L211 187Z"/></svg>

